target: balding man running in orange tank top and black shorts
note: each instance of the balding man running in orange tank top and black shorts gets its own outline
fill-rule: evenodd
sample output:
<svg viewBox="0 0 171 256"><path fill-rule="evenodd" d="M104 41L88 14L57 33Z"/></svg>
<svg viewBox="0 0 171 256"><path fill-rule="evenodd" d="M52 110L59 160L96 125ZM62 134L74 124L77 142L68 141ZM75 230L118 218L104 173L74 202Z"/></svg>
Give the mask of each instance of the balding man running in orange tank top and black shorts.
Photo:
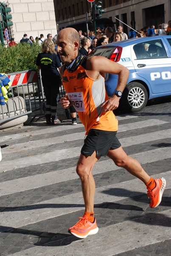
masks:
<svg viewBox="0 0 171 256"><path fill-rule="evenodd" d="M116 137L118 120L112 111L118 108L129 70L102 56L81 55L78 52L80 37L73 28L65 28L58 33L57 45L65 63L60 74L66 94L60 102L63 108L70 105L76 108L87 135L76 167L81 179L85 212L78 223L68 230L78 238L85 238L98 232L94 218L95 181L92 169L101 156L110 157L116 166L125 168L145 183L151 208L160 204L166 182L164 178L150 177L137 160L123 151ZM118 75L118 85L111 98L105 91L102 73Z"/></svg>

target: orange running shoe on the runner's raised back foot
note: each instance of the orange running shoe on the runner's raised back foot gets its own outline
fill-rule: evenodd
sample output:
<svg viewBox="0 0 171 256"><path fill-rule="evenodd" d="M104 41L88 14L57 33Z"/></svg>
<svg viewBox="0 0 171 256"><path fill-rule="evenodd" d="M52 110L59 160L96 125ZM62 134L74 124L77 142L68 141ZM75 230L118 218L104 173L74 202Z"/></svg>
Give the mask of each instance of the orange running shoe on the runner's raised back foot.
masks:
<svg viewBox="0 0 171 256"><path fill-rule="evenodd" d="M150 207L154 208L157 207L161 200L162 200L162 195L163 192L165 190L165 185L166 185L166 181L164 178L161 179L154 179L156 186L153 190L148 189L147 191L147 195L148 198L150 199Z"/></svg>

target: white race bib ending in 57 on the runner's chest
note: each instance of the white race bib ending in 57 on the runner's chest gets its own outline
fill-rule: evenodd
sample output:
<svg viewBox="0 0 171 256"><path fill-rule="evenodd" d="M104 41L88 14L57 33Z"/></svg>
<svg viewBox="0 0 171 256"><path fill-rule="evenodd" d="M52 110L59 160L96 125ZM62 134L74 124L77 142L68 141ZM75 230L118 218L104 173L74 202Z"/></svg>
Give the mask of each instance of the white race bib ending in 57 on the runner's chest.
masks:
<svg viewBox="0 0 171 256"><path fill-rule="evenodd" d="M68 98L73 103L74 108L78 112L85 112L85 105L82 92L67 93Z"/></svg>

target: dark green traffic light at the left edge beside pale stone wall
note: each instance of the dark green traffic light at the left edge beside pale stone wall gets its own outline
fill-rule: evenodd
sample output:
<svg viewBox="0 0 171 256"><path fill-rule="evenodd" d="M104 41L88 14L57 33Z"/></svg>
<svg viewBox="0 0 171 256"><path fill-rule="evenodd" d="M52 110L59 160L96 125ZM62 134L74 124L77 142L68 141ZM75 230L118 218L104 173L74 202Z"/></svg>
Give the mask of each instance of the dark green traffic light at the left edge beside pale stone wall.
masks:
<svg viewBox="0 0 171 256"><path fill-rule="evenodd" d="M13 22L11 21L12 15L10 14L11 8L7 7L5 3L0 2L0 12L2 17L2 28L6 29L13 26Z"/></svg>

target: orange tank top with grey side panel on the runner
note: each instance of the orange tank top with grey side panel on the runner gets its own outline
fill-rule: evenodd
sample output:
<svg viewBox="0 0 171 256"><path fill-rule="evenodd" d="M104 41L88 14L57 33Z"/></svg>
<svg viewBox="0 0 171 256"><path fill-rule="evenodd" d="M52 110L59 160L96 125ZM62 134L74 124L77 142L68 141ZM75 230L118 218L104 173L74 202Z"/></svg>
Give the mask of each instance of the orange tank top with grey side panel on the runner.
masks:
<svg viewBox="0 0 171 256"><path fill-rule="evenodd" d="M62 76L64 89L86 129L118 131L118 120L112 111L103 112L101 104L108 98L104 78L93 80L81 65L73 73L64 70Z"/></svg>

